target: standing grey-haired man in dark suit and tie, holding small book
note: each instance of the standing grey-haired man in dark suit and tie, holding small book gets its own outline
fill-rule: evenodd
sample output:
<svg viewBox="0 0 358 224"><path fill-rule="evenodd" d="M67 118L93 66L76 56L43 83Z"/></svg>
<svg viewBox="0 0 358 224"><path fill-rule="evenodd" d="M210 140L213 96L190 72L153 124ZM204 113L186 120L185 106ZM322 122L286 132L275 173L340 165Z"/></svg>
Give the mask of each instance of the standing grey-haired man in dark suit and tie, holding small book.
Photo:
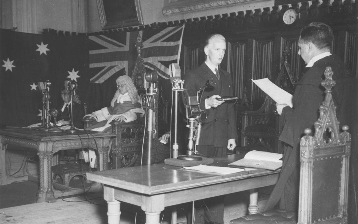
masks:
<svg viewBox="0 0 358 224"><path fill-rule="evenodd" d="M226 156L226 149L233 150L236 147L234 103L218 100L222 96L233 95L229 73L219 68L225 50L226 40L221 34L209 35L204 46L205 62L185 72L184 75L184 89L193 89L195 92L208 80L215 83L212 90L205 90L200 97L200 108L207 113L207 120L202 123L196 150L208 157ZM196 202L195 223L202 224L207 221L223 223L223 202L223 196Z"/></svg>

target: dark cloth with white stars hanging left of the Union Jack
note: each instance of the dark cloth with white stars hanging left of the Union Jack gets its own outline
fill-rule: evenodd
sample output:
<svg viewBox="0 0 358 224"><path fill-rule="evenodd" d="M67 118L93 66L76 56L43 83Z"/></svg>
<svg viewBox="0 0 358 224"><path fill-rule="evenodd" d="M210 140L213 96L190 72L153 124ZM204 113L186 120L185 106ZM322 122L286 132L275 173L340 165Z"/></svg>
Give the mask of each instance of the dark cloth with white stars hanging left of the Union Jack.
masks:
<svg viewBox="0 0 358 224"><path fill-rule="evenodd" d="M38 45L48 44L46 54L36 51ZM32 89L33 83L49 80L50 108L61 106L61 90L64 80L73 70L82 103L88 105L88 112L109 105L116 91L115 78L103 84L90 83L91 71L88 67L88 37L49 30L44 34L29 34L0 29L0 124L25 127L40 123L42 93L39 87ZM6 70L4 61L13 61L11 70ZM93 71L95 72L95 71Z"/></svg>

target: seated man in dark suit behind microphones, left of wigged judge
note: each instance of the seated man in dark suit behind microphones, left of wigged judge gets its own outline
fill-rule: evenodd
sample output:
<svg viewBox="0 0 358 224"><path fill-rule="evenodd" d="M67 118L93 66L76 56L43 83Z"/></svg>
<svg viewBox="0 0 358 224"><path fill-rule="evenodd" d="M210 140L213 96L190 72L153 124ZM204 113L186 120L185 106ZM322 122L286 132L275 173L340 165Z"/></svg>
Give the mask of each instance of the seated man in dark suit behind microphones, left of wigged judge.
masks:
<svg viewBox="0 0 358 224"><path fill-rule="evenodd" d="M63 100L63 105L57 108L57 126L62 125L71 125L71 107L73 113L73 126L79 129L83 129L83 116L84 108L83 105L79 103L78 96L72 97L71 102L71 92L70 90L64 89L61 91L61 97Z"/></svg>

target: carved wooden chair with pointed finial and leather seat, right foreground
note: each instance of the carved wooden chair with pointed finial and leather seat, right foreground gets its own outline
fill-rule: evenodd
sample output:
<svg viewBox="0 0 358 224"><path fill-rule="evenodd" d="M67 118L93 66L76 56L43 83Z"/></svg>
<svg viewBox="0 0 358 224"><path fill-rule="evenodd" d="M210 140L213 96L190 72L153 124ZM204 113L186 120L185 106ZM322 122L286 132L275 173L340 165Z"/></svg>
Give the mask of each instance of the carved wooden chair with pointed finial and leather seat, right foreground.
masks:
<svg viewBox="0 0 358 224"><path fill-rule="evenodd" d="M326 88L320 116L315 122L315 134L305 130L300 143L299 213L274 210L233 219L230 224L333 224L347 223L348 166L350 134L348 126L339 133L339 122L332 99L332 70L327 67Z"/></svg>

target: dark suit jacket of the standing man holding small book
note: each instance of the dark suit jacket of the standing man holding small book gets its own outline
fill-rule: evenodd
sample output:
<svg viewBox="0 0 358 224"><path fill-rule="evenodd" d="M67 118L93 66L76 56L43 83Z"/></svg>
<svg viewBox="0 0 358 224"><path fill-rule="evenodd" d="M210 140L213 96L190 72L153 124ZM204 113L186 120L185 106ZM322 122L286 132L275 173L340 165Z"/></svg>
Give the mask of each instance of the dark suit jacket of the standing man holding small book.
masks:
<svg viewBox="0 0 358 224"><path fill-rule="evenodd" d="M212 95L233 96L233 86L227 71L219 68L220 80L205 64L205 62L193 70L188 70L184 75L184 89L198 91L205 85L207 80L216 82L212 90L202 93L200 108L205 110L205 99ZM214 147L226 147L228 139L236 139L236 116L234 103L224 102L217 108L205 110L208 114L207 120L203 122L199 145Z"/></svg>

